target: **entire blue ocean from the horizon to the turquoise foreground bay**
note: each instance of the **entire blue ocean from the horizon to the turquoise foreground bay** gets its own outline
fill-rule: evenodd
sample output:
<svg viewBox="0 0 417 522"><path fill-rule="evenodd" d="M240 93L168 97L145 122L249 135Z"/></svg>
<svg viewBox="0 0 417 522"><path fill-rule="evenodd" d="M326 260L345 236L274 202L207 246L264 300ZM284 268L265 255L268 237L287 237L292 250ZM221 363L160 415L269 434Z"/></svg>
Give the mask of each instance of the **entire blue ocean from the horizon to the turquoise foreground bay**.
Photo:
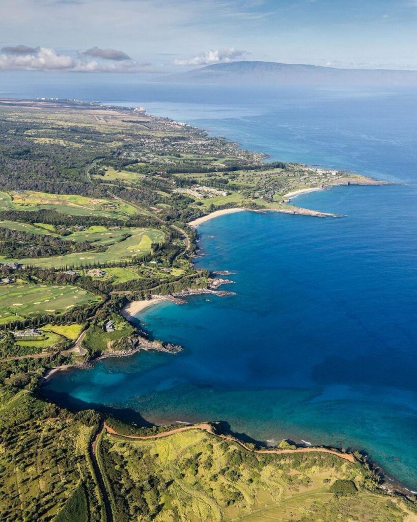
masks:
<svg viewBox="0 0 417 522"><path fill-rule="evenodd" d="M288 437L361 449L417 489L417 91L63 77L35 75L29 85L26 76L6 76L0 96L144 105L274 159L401 184L294 200L343 215L337 219L241 212L204 223L197 263L234 272L236 295L163 303L138 318L153 337L185 350L58 373L44 393L130 419L222 420L269 443Z"/></svg>

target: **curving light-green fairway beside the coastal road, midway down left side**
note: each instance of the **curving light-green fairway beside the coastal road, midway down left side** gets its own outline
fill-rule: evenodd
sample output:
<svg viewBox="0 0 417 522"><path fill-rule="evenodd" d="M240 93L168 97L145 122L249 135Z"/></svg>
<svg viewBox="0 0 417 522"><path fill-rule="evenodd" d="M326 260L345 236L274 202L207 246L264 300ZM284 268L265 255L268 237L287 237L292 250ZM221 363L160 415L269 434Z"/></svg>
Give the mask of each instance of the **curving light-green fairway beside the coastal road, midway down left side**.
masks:
<svg viewBox="0 0 417 522"><path fill-rule="evenodd" d="M130 237L120 241L120 239L122 239L121 236L124 233L127 233L127 231L130 234ZM76 232L76 234L78 234L78 232ZM151 251L152 243L160 243L164 239L164 232L156 229L143 228L120 229L109 233L81 233L77 235L76 238L78 238L79 241L83 241L85 240L86 235L90 237L90 240L92 240L93 237L94 239L101 238L100 243L109 245L107 250L105 252L74 252L62 256L25 258L16 260L18 260L18 262L22 265L34 265L44 268L64 268L66 266L81 267L113 261L119 262L120 260L131 260L133 257L148 254ZM0 263L5 263L10 260L11 259L0 257Z"/></svg>

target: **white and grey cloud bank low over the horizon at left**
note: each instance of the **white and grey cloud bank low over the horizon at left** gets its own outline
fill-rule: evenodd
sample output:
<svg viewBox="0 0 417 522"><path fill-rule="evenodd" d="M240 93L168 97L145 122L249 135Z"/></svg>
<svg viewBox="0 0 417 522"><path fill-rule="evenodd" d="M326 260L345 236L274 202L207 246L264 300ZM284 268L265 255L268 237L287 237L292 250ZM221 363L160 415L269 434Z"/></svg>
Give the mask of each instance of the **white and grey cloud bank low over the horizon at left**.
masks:
<svg viewBox="0 0 417 522"><path fill-rule="evenodd" d="M91 60L90 58L94 58ZM139 63L115 49L93 47L75 56L46 47L6 46L0 50L0 70L62 70L79 73L134 73L149 64Z"/></svg>

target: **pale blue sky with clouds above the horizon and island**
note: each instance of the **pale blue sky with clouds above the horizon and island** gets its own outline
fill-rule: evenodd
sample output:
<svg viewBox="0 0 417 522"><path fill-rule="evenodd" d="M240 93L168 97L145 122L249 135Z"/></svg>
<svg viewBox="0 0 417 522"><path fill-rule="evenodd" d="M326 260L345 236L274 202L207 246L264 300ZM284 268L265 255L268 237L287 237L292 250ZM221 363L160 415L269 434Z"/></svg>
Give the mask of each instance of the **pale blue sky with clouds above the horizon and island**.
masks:
<svg viewBox="0 0 417 522"><path fill-rule="evenodd" d="M417 69L417 0L0 0L0 70Z"/></svg>

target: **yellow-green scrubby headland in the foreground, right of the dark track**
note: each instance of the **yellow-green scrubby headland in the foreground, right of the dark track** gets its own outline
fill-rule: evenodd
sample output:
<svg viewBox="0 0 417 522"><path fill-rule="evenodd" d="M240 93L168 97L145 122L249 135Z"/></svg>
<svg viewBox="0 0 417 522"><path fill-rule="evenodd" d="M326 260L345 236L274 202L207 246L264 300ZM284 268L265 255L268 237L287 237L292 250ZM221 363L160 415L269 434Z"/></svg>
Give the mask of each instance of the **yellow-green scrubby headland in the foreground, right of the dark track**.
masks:
<svg viewBox="0 0 417 522"><path fill-rule="evenodd" d="M399 499L367 489L360 465L332 455L255 455L197 430L147 441L107 434L101 450L119 522L416 520ZM339 480L358 492L336 495Z"/></svg>

